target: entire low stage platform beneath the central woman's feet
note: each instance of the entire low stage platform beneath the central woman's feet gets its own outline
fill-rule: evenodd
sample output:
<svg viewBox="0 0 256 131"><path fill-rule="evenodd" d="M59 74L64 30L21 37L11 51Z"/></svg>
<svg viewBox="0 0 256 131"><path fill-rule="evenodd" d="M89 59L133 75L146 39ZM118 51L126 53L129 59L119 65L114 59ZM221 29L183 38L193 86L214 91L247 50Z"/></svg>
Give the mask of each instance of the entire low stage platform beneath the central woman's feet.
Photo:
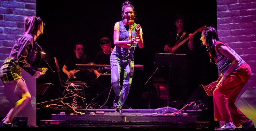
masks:
<svg viewBox="0 0 256 131"><path fill-rule="evenodd" d="M62 113L61 113L62 112ZM204 111L187 110L122 110L115 109L51 109L50 119L41 119L40 127L115 127L115 128L189 128L210 129L211 123L202 119ZM48 112L49 113L49 112ZM55 113L55 114L54 114ZM61 115L65 113L65 115ZM207 112L206 112L207 114Z"/></svg>

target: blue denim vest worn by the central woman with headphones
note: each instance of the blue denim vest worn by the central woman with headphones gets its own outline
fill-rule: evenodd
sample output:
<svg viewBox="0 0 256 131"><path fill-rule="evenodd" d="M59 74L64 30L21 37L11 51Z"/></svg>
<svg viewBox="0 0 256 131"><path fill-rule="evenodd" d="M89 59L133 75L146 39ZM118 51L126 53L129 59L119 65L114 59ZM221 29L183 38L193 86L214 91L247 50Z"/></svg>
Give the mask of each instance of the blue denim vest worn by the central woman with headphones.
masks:
<svg viewBox="0 0 256 131"><path fill-rule="evenodd" d="M137 33L136 33L136 30L135 30L135 27L137 26L138 24L136 23L133 23L133 28L132 28L132 37L137 37ZM125 26L124 25L124 20L122 21L119 21L119 40L120 41L128 41L129 40L129 26ZM134 52L134 48L137 47L138 44L133 44L132 47L130 48L130 51L129 49L127 48L122 48L122 47L118 47L118 46L115 46L114 48L114 52L117 56L119 57L127 57L127 55L129 54L129 59L131 60L134 60L134 55L133 55L133 52Z"/></svg>

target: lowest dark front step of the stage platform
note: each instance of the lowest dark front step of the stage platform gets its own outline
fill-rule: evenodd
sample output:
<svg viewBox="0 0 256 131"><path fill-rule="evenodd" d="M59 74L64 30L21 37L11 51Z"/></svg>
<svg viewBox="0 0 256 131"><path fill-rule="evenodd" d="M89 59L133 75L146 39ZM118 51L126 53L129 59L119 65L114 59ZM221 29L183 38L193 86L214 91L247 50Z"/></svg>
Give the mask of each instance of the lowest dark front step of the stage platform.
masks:
<svg viewBox="0 0 256 131"><path fill-rule="evenodd" d="M130 127L208 129L209 122L124 122L124 121L54 121L41 120L41 127Z"/></svg>

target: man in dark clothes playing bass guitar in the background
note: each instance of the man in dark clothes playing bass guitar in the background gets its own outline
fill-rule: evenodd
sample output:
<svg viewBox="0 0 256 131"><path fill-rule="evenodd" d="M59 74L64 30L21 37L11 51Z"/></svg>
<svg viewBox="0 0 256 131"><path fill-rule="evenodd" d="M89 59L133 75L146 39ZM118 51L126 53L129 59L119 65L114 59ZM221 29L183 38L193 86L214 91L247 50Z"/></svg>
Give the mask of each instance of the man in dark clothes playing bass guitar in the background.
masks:
<svg viewBox="0 0 256 131"><path fill-rule="evenodd" d="M168 36L168 44L164 46L165 53L175 53L175 54L186 54L182 57L175 57L171 60L169 76L170 80L170 99L173 101L179 101L180 105L187 102L190 96L190 85L189 80L189 55L191 54L193 45L193 34L189 34L183 30L184 18L182 15L176 15L174 19L174 24L176 25L176 31L170 32ZM184 39L189 39L180 45ZM174 55L175 56L175 55ZM184 57L183 57L184 56Z"/></svg>

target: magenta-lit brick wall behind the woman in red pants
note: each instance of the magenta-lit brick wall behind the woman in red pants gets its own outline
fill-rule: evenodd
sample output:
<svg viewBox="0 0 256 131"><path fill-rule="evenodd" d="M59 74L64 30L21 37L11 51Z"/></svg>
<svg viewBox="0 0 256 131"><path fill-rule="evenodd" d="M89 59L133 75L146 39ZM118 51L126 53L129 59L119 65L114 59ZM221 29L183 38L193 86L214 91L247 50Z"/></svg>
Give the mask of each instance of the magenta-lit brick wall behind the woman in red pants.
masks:
<svg viewBox="0 0 256 131"><path fill-rule="evenodd" d="M251 67L247 89L237 106L256 121L256 0L217 0L217 30L221 41L233 48Z"/></svg>

